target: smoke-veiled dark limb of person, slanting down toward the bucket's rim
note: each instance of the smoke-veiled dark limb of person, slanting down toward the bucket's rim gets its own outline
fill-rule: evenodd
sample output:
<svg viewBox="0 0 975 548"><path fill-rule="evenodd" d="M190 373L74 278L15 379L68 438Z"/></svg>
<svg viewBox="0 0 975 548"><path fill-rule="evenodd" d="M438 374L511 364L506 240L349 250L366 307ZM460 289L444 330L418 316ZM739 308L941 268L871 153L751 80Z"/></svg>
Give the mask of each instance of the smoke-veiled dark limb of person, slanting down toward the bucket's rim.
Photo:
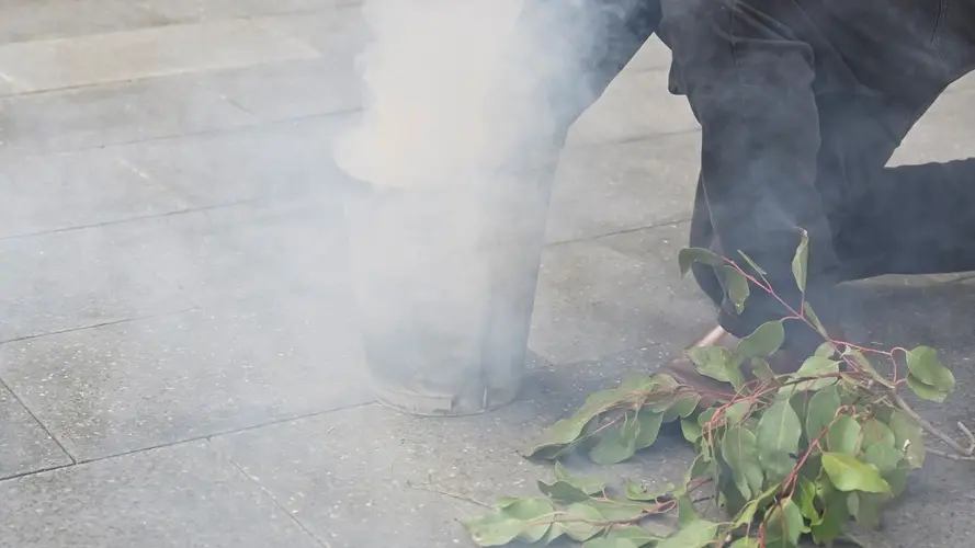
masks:
<svg viewBox="0 0 975 548"><path fill-rule="evenodd" d="M659 0L524 0L492 98L514 153L557 153L659 22Z"/></svg>

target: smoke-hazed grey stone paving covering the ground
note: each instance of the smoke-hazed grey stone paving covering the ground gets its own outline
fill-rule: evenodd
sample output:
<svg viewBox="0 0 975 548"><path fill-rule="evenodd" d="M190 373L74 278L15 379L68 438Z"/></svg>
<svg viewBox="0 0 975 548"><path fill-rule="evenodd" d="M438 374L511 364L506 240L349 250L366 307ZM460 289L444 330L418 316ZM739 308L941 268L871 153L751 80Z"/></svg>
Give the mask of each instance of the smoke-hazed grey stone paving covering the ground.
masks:
<svg viewBox="0 0 975 548"><path fill-rule="evenodd" d="M560 165L523 396L462 420L371 403L329 153L362 36L341 0L0 3L0 546L467 546L477 509L430 490L531 491L546 471L515 446L706 323L673 263L698 127L650 44ZM973 93L897 161L975 152ZM939 424L975 420L973 289L853 288L855 338L955 365ZM673 480L687 456L620 472ZM972 546L973 493L933 460L876 546Z"/></svg>

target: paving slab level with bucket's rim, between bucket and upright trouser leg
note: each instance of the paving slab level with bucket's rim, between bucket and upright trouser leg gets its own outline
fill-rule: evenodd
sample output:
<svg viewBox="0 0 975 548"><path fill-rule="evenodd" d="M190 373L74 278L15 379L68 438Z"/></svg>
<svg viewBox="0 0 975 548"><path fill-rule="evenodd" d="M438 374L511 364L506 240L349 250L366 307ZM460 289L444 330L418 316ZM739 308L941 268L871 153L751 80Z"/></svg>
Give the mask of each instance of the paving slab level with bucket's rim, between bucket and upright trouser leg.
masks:
<svg viewBox="0 0 975 548"><path fill-rule="evenodd" d="M690 219L700 159L696 133L566 148L552 190L548 241Z"/></svg>

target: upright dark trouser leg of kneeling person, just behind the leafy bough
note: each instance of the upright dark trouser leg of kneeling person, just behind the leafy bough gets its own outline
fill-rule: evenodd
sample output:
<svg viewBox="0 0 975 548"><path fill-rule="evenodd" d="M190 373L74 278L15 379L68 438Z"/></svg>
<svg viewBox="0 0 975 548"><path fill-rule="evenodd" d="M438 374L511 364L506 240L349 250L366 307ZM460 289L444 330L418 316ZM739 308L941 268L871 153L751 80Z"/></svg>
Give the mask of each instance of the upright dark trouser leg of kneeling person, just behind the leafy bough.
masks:
<svg viewBox="0 0 975 548"><path fill-rule="evenodd" d="M796 10L792 0L664 0L661 37L702 126L701 180L713 251L739 264L739 251L747 253L797 309L792 258L806 230L807 296L826 316L824 295L838 261L816 189L820 142L813 52L781 23ZM724 302L721 323L742 336L785 316L781 304L752 288L744 313ZM791 323L796 328L787 328L791 333L810 332Z"/></svg>

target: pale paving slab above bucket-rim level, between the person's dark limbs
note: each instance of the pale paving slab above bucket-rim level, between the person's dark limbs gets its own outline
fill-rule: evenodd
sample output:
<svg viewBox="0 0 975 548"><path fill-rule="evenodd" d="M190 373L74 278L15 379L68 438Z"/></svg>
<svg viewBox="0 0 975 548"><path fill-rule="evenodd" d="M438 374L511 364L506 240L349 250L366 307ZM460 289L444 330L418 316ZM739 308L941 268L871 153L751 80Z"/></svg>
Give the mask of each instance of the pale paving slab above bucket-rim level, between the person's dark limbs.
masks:
<svg viewBox="0 0 975 548"><path fill-rule="evenodd" d="M568 146L699 130L687 99L667 91L667 75L625 69L572 126Z"/></svg>

